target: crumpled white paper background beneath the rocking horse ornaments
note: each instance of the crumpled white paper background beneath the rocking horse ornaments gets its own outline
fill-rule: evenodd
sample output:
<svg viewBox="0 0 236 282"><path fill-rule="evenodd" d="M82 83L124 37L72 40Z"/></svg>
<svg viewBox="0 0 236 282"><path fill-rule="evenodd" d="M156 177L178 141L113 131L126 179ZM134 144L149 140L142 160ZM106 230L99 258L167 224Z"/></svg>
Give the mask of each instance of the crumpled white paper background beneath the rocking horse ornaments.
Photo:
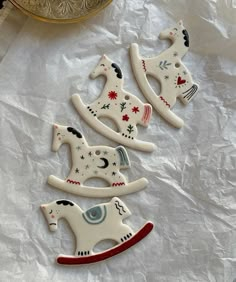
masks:
<svg viewBox="0 0 236 282"><path fill-rule="evenodd" d="M236 279L235 8L233 0L121 0L80 24L22 16L7 48L1 39L1 281ZM123 171L129 180L149 180L147 189L122 197L132 211L127 222L138 230L152 220L155 229L110 260L59 266L56 256L73 254L74 237L63 220L50 232L39 206L67 198L87 209L110 199L82 198L47 185L48 175L64 178L70 169L67 146L51 151L52 124L76 127L90 145L116 146L80 119L70 97L78 92L91 102L99 96L105 80L89 74L105 53L121 66L124 88L145 101L131 71L129 46L137 42L145 56L160 53L169 43L158 34L179 19L190 34L184 63L200 91L188 106L174 107L185 121L180 130L153 113L139 137L155 142L157 150L127 149L132 167ZM3 26L0 34L4 38Z"/></svg>

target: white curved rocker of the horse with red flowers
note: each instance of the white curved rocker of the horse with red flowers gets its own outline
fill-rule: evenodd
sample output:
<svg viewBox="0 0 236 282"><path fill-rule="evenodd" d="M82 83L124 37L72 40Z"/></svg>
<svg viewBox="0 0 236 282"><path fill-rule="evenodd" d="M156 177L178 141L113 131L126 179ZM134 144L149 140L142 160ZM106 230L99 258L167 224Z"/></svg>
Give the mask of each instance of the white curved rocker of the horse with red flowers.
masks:
<svg viewBox="0 0 236 282"><path fill-rule="evenodd" d="M105 124L103 124L97 117L91 119L91 114L88 112L86 105L82 102L78 94L72 95L72 102L79 112L80 116L89 124L94 130L107 137L108 139L115 141L119 144L125 145L132 149L152 152L155 150L156 146L153 143L137 140L137 139L127 139L123 137L120 133L115 132Z"/></svg>

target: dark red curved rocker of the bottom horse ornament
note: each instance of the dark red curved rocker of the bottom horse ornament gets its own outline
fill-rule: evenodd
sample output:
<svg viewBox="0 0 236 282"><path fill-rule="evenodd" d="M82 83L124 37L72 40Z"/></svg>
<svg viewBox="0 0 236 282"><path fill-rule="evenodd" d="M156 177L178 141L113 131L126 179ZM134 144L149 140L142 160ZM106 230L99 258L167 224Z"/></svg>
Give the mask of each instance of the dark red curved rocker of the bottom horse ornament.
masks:
<svg viewBox="0 0 236 282"><path fill-rule="evenodd" d="M119 253L124 252L130 247L137 244L143 238L145 238L153 229L153 223L147 222L137 233L135 233L129 240L116 245L115 247L108 249L102 253L94 254L85 257L65 256L59 255L57 257L57 263L65 265L79 265L99 262L108 258L111 258Z"/></svg>

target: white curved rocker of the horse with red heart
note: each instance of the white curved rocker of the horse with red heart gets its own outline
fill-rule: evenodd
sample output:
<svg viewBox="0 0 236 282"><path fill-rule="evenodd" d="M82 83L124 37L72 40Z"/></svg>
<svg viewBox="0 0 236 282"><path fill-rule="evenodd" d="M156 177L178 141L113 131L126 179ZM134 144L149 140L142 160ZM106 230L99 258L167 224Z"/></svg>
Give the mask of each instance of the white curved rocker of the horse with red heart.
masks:
<svg viewBox="0 0 236 282"><path fill-rule="evenodd" d="M136 43L131 44L130 47L131 65L139 85L139 88L143 92L144 96L151 103L154 109L170 124L176 128L181 128L184 125L184 121L173 113L170 108L162 101L160 96L152 89L149 84L146 74L141 67L141 58L139 56L138 45Z"/></svg>

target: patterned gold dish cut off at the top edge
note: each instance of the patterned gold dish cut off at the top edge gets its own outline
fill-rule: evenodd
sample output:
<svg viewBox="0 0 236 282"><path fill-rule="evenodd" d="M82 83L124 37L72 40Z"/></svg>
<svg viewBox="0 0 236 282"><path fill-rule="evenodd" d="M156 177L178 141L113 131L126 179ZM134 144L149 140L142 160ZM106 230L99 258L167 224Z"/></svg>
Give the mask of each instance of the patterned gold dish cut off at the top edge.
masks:
<svg viewBox="0 0 236 282"><path fill-rule="evenodd" d="M25 14L41 21L73 23L95 15L112 0L9 0Z"/></svg>

